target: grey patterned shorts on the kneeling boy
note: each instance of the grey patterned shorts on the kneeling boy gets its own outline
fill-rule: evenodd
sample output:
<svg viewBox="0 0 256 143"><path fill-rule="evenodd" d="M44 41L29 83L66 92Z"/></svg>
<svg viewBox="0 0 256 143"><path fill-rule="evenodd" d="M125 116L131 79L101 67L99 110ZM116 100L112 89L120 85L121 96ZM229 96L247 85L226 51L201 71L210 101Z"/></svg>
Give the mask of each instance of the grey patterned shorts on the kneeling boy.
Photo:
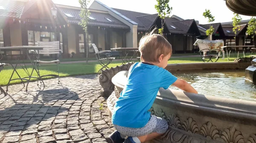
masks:
<svg viewBox="0 0 256 143"><path fill-rule="evenodd" d="M128 128L118 125L113 125L121 135L127 137L140 137L143 135L148 135L153 132L163 134L168 129L168 123L165 119L151 115L148 123L142 128Z"/></svg>

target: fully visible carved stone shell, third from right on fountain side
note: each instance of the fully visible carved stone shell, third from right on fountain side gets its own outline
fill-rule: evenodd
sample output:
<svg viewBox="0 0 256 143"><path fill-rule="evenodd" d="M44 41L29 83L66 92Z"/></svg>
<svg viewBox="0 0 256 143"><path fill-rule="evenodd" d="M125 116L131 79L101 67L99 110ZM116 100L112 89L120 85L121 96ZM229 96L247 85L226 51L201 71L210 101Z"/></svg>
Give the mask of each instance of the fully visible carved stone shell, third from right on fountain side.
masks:
<svg viewBox="0 0 256 143"><path fill-rule="evenodd" d="M220 137L218 129L210 122L207 122L207 124L203 124L201 126L200 134L213 140L216 140L217 137Z"/></svg>

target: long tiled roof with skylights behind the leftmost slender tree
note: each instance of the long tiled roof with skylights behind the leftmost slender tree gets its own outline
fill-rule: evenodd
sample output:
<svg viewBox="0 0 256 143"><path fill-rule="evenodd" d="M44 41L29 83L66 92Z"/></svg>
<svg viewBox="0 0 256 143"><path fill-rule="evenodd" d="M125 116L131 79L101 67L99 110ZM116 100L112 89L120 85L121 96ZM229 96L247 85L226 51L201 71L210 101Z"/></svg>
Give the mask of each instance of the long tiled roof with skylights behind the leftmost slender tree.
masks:
<svg viewBox="0 0 256 143"><path fill-rule="evenodd" d="M66 13L66 14L71 14L73 16L73 17L67 17L65 15L70 23L78 24L80 22L81 20L81 17L79 16L80 10L70 9L70 8L59 8L59 9L64 13L64 15ZM124 23L117 20L110 14L93 12L93 11L90 11L90 14L91 14L90 16L96 20L89 19L88 25L130 29L128 25L125 25ZM108 21L107 18L110 19L112 22Z"/></svg>

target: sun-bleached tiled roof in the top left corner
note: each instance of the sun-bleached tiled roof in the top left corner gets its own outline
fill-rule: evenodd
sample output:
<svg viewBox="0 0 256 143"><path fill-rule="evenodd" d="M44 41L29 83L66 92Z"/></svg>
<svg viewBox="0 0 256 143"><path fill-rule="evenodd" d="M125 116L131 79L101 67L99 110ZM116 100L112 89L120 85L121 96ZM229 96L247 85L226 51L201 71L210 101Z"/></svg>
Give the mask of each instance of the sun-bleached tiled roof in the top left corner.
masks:
<svg viewBox="0 0 256 143"><path fill-rule="evenodd" d="M5 10L0 10L0 17L19 18L24 4L24 2L14 0L0 1L0 5L4 6L5 8Z"/></svg>

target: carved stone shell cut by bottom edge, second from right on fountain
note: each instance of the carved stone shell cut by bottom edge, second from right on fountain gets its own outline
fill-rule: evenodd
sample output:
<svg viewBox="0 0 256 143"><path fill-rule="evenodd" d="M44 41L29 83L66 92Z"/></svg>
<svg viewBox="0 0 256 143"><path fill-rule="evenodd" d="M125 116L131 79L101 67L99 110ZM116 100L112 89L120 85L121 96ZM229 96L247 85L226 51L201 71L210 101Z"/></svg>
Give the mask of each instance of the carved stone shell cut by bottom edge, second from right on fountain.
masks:
<svg viewBox="0 0 256 143"><path fill-rule="evenodd" d="M225 143L244 143L242 133L236 130L234 127L224 129L224 131L221 133L221 138L225 141Z"/></svg>

